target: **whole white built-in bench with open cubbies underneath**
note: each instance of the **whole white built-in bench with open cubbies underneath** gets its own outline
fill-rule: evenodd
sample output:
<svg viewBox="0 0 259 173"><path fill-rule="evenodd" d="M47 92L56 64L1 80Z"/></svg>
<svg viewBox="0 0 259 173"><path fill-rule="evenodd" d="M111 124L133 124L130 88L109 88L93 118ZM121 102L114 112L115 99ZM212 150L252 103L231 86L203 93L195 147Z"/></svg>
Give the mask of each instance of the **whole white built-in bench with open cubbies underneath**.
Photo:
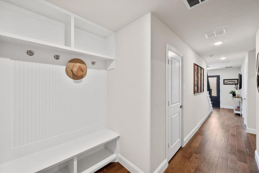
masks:
<svg viewBox="0 0 259 173"><path fill-rule="evenodd" d="M103 129L0 165L8 173L91 173L117 158L119 135Z"/></svg>

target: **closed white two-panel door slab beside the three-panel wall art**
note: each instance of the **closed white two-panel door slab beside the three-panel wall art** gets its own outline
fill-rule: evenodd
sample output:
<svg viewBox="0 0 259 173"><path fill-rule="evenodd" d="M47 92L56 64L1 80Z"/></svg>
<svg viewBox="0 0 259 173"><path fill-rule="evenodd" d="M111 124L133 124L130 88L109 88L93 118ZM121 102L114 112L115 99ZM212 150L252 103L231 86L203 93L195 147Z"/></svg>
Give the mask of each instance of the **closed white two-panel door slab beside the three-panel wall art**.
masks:
<svg viewBox="0 0 259 173"><path fill-rule="evenodd" d="M182 57L168 50L168 161L182 145Z"/></svg>

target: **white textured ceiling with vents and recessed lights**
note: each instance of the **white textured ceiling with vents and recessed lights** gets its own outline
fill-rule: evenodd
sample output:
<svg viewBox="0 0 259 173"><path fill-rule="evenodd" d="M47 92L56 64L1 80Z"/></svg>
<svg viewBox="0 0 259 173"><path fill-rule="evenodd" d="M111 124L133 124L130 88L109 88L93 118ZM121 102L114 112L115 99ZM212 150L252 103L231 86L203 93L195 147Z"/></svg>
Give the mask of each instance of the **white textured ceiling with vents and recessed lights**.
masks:
<svg viewBox="0 0 259 173"><path fill-rule="evenodd" d="M255 48L259 27L259 1L210 0L188 10L179 1L77 1L48 0L78 16L118 31L153 12L176 35L208 62L211 69L240 67L247 51ZM226 28L226 34L206 38L205 33ZM223 44L212 43L223 40ZM209 58L209 55L214 58ZM220 57L227 57L223 61Z"/></svg>

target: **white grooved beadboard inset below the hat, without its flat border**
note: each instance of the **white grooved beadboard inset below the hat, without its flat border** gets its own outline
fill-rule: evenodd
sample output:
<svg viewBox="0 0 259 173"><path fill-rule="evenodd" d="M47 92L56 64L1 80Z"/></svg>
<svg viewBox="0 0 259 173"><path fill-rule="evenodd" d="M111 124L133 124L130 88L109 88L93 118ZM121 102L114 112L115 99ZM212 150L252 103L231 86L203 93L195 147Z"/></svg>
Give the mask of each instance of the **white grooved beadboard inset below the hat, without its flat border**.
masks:
<svg viewBox="0 0 259 173"><path fill-rule="evenodd" d="M100 70L75 83L65 66L11 60L12 147L100 123Z"/></svg>

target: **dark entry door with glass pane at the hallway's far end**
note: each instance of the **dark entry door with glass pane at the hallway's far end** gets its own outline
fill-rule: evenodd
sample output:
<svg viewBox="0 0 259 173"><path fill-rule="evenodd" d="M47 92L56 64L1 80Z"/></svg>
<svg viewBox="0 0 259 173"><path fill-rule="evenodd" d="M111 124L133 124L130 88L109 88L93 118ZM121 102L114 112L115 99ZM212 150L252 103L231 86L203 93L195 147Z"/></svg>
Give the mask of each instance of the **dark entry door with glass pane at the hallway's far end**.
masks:
<svg viewBox="0 0 259 173"><path fill-rule="evenodd" d="M212 107L220 107L220 76L209 76Z"/></svg>

